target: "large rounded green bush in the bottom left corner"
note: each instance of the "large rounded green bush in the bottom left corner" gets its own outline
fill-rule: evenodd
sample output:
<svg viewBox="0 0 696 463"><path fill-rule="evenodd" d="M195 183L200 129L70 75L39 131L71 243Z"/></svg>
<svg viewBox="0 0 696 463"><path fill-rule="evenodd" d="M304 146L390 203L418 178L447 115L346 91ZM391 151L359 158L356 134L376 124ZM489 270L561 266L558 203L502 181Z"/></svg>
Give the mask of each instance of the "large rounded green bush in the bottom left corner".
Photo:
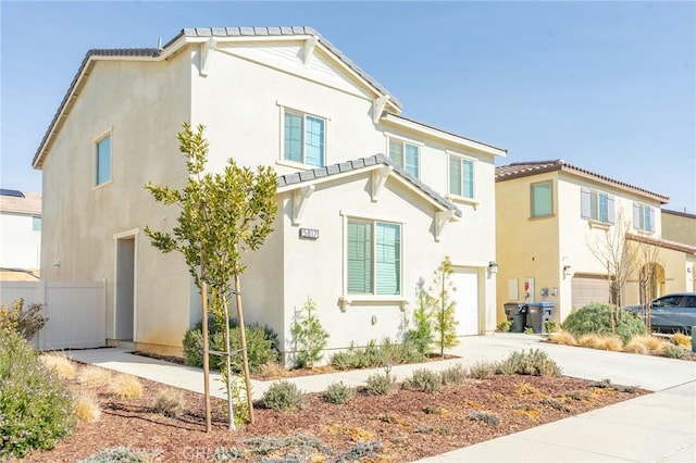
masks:
<svg viewBox="0 0 696 463"><path fill-rule="evenodd" d="M74 405L22 335L0 330L0 460L55 447L75 425Z"/></svg>

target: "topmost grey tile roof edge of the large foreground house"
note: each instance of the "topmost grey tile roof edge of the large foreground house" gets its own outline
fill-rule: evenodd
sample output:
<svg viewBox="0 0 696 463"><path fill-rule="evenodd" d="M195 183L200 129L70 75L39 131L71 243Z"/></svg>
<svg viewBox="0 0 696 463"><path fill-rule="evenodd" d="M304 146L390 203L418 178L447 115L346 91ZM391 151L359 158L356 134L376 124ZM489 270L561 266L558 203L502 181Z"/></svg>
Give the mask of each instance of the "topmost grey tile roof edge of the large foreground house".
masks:
<svg viewBox="0 0 696 463"><path fill-rule="evenodd" d="M34 154L32 165L36 166L39 155L44 150L46 142L48 141L51 133L55 128L63 110L70 101L73 90L78 85L79 78L83 72L87 67L92 57L140 57L140 58L157 58L161 55L169 47L174 45L182 37L261 37L261 36L306 36L312 35L319 39L319 42L331 50L344 64L351 68L361 78L376 88L380 92L389 97L389 100L400 110L402 108L401 102L394 97L386 88L372 78L368 73L362 71L356 63L353 63L348 57L346 57L339 49L334 47L328 40L326 40L321 34L314 30L312 27L197 27L197 28L184 28L174 38L172 38L166 45L159 48L116 48L116 49L92 49L87 51L83 62L77 70L77 73L73 77L73 82L67 88L67 92L63 97L63 101L58 107L53 120L48 126L39 147Z"/></svg>

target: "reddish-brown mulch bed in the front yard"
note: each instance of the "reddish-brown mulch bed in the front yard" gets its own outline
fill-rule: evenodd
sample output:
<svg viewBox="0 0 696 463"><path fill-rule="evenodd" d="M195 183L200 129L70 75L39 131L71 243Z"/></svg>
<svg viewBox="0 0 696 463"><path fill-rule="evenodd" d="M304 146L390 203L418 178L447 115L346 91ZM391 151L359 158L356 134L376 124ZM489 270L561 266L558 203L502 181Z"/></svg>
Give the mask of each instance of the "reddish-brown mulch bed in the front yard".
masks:
<svg viewBox="0 0 696 463"><path fill-rule="evenodd" d="M103 449L127 447L166 463L215 461L221 448L239 456L234 461L408 462L646 393L568 377L493 376L448 385L436 393L399 389L376 397L358 390L347 404L308 393L297 411L254 406L256 423L236 431L227 430L224 402L213 399L213 430L207 434L202 396L176 390L185 411L165 417L153 404L161 391L173 388L141 383L140 399L116 399L108 386L94 389L101 418L77 425L58 448L24 461L76 462ZM84 388L76 380L69 385Z"/></svg>

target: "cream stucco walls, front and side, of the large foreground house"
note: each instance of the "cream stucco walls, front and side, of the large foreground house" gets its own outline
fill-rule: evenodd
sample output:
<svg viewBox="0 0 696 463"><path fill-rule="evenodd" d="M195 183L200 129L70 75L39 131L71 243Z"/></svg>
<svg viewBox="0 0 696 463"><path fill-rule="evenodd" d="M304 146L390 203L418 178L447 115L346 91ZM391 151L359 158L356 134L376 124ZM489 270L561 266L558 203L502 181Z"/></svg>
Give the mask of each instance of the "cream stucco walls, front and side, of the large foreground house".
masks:
<svg viewBox="0 0 696 463"><path fill-rule="evenodd" d="M178 352L184 331L200 318L200 298L181 254L162 255L142 233L146 226L171 229L178 214L154 202L142 186L185 184L176 140L184 121L206 125L211 171L222 168L228 158L243 165L272 165L281 175L307 168L281 159L282 114L287 108L326 118L326 164L387 152L386 137L397 135L421 145L421 178L443 196L449 153L474 160L476 198L457 202L462 217L449 223L435 242L432 203L394 178L372 202L369 173L356 174L318 186L302 226L320 229L321 237L306 241L290 224L291 193L278 196L276 232L259 252L247 255L247 322L269 324L289 348L294 309L310 296L323 311L326 328L335 333L332 348L397 337L412 305L407 304L407 312L394 301L349 305L345 311L337 305L345 267L340 211L353 211L405 223L401 299L410 302L418 278L427 283L449 255L456 266L478 271L480 331L495 329L495 276L485 273L488 262L496 260L494 155L418 129L375 125L373 90L319 51L306 66L298 61L297 45L276 46L222 46L213 52L206 76L200 73L198 46L162 62L96 62L44 161L45 277L105 279L107 334L113 338L117 239L135 238L134 339L144 349ZM95 187L95 142L108 133L113 180Z"/></svg>

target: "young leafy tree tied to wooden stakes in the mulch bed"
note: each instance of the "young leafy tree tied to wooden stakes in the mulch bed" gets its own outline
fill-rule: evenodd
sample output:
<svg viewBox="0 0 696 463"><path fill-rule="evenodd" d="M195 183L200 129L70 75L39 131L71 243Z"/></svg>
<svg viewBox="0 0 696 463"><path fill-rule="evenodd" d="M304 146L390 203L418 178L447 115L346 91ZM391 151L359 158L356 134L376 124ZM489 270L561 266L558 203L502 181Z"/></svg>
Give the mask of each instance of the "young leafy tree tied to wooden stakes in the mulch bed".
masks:
<svg viewBox="0 0 696 463"><path fill-rule="evenodd" d="M184 254L189 273L201 291L203 300L203 365L208 361L208 301L217 323L224 326L226 346L226 372L229 374L229 305L234 296L239 323L239 337L247 389L249 420L253 423L251 381L246 349L241 285L239 276L245 272L243 255L258 250L273 232L277 212L275 192L276 175L271 167L259 166L256 172L238 166L229 159L221 173L206 173L209 145L203 137L204 127L194 132L184 123L178 134L179 151L186 158L188 179L182 190L148 183L146 189L158 202L178 205L177 225L167 232L145 233L152 246L162 252L178 251ZM209 289L208 289L209 288ZM207 427L210 429L209 375L207 368ZM234 428L234 411L231 381L227 376L227 403L229 427Z"/></svg>

